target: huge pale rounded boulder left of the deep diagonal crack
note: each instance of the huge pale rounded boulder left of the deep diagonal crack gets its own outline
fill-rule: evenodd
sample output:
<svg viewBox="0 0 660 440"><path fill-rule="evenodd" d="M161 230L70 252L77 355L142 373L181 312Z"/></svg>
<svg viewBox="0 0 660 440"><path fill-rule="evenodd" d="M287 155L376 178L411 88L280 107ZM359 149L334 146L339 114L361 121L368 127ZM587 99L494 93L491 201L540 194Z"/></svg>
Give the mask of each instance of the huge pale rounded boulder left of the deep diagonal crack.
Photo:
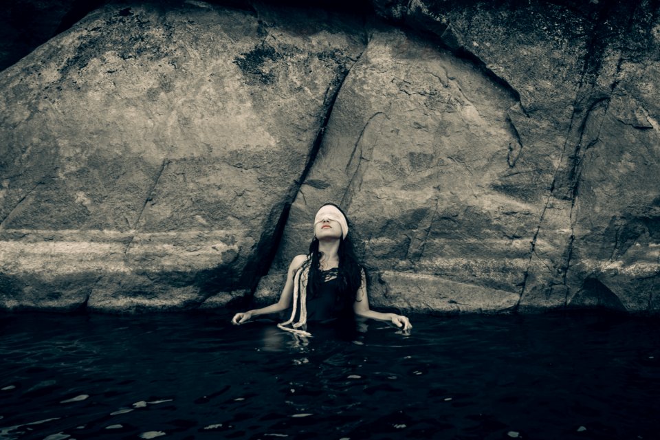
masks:
<svg viewBox="0 0 660 440"><path fill-rule="evenodd" d="M0 73L0 307L221 305L249 292L360 21L120 2Z"/></svg>

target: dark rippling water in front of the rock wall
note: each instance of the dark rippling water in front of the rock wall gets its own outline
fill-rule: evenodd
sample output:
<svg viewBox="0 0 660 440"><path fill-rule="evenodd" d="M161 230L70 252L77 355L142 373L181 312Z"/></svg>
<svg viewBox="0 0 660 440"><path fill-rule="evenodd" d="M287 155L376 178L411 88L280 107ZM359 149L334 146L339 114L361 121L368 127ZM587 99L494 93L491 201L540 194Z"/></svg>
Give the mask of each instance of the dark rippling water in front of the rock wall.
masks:
<svg viewBox="0 0 660 440"><path fill-rule="evenodd" d="M0 439L660 438L657 320L229 318L0 316Z"/></svg>

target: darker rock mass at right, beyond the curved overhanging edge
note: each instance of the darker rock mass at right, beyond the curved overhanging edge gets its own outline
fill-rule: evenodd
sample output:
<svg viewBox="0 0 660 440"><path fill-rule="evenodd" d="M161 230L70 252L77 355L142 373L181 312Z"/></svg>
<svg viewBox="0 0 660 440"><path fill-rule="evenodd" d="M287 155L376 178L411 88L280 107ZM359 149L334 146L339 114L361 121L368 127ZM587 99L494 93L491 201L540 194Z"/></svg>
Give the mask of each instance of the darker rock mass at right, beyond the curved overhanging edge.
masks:
<svg viewBox="0 0 660 440"><path fill-rule="evenodd" d="M660 311L659 6L373 3L383 17L435 34L520 97L509 118L520 159L542 165L531 169L547 201L518 309ZM507 192L538 194L529 183L511 179Z"/></svg>

